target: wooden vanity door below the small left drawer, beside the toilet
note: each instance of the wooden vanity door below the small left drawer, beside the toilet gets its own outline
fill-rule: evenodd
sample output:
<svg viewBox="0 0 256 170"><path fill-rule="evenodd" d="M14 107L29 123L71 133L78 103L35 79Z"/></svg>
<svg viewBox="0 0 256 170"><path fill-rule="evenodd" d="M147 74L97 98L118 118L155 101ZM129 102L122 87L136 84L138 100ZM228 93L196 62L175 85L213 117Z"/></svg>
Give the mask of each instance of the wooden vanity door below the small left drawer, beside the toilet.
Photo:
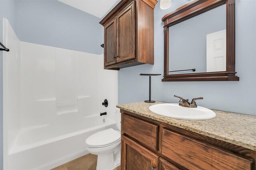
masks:
<svg viewBox="0 0 256 170"><path fill-rule="evenodd" d="M158 155L122 136L121 170L158 170Z"/></svg>

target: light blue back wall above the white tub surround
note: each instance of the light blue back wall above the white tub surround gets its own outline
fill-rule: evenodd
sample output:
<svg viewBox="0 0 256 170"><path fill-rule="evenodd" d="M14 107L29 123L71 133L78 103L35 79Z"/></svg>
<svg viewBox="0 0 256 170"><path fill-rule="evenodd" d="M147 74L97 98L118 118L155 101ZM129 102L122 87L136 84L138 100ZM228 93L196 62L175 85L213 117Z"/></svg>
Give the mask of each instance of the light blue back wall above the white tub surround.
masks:
<svg viewBox="0 0 256 170"><path fill-rule="evenodd" d="M102 54L100 18L57 0L17 0L20 41Z"/></svg>

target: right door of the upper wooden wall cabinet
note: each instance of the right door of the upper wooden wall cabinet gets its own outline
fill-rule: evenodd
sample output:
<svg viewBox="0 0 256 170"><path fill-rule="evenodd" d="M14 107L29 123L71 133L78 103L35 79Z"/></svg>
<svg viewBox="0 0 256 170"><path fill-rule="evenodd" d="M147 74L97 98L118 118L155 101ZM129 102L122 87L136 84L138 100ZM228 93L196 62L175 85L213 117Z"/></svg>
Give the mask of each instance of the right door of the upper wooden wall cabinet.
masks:
<svg viewBox="0 0 256 170"><path fill-rule="evenodd" d="M134 2L117 16L116 62L135 59Z"/></svg>

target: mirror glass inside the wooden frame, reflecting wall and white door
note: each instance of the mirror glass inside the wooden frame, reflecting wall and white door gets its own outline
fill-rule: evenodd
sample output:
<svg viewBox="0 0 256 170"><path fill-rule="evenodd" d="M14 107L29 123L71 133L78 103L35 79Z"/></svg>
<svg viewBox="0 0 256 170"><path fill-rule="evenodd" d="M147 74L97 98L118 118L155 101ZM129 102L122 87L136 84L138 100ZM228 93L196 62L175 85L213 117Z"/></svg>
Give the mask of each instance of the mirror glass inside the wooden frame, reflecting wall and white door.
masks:
<svg viewBox="0 0 256 170"><path fill-rule="evenodd" d="M169 74L226 71L226 5L169 29Z"/></svg>

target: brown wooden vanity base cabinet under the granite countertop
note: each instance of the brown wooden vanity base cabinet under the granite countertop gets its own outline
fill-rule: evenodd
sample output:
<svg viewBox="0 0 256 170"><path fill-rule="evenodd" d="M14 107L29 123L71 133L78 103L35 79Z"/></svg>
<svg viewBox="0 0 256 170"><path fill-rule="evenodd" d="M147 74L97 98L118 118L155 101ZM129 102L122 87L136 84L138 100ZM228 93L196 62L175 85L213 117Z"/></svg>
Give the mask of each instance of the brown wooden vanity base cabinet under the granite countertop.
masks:
<svg viewBox="0 0 256 170"><path fill-rule="evenodd" d="M256 170L254 150L121 113L121 170Z"/></svg>

